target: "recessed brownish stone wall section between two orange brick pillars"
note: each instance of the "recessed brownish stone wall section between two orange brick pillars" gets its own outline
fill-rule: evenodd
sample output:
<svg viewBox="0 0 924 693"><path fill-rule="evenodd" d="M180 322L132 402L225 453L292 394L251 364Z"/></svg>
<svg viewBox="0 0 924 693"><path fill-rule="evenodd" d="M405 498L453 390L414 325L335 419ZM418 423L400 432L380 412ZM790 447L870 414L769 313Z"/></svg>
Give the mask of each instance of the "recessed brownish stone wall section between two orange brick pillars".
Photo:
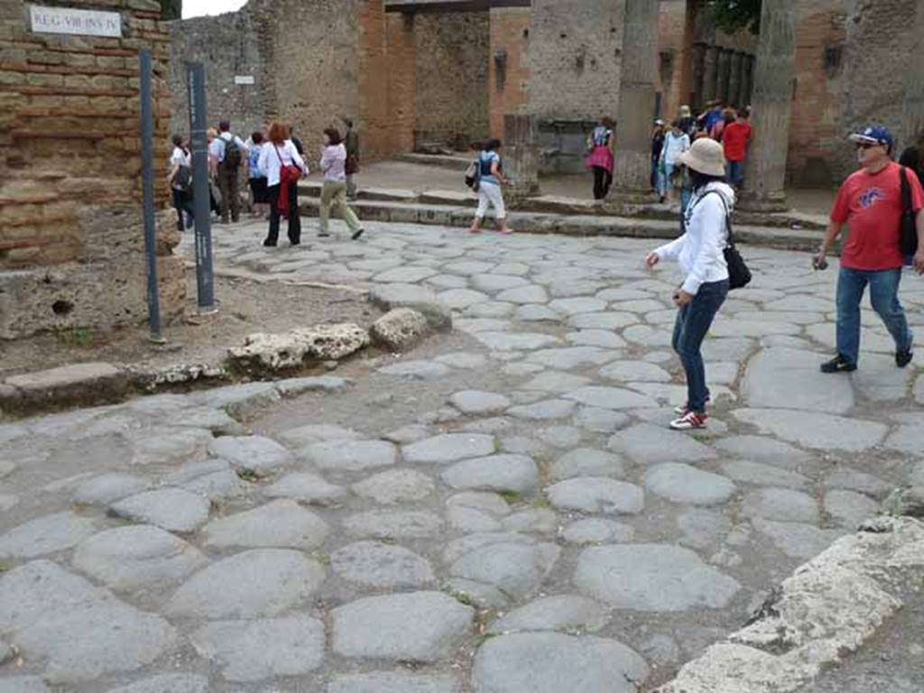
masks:
<svg viewBox="0 0 924 693"><path fill-rule="evenodd" d="M488 137L487 12L419 14L415 141L466 148Z"/></svg>

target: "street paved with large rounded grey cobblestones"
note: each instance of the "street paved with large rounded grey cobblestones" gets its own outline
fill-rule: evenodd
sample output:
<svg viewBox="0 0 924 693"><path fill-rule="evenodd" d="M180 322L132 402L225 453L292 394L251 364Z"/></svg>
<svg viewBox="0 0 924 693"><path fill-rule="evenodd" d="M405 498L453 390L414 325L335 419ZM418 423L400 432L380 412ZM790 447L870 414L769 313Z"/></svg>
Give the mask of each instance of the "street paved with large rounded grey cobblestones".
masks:
<svg viewBox="0 0 924 693"><path fill-rule="evenodd" d="M278 249L217 226L216 264L394 285L453 332L0 424L0 693L634 693L924 484L913 274L918 361L867 301L859 370L822 375L836 261L744 248L691 435L666 429L676 275L648 242L306 226Z"/></svg>

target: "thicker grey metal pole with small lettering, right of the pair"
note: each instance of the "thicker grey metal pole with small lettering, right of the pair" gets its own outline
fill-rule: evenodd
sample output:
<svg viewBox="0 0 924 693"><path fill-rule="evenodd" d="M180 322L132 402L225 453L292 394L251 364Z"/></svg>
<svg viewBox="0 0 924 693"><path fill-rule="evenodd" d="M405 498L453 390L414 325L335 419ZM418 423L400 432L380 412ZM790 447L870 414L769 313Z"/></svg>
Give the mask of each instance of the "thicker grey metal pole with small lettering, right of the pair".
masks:
<svg viewBox="0 0 924 693"><path fill-rule="evenodd" d="M212 267L212 205L209 193L209 152L206 139L205 67L187 63L189 140L192 145L192 201L196 215L196 293L200 313L213 313L215 277Z"/></svg>

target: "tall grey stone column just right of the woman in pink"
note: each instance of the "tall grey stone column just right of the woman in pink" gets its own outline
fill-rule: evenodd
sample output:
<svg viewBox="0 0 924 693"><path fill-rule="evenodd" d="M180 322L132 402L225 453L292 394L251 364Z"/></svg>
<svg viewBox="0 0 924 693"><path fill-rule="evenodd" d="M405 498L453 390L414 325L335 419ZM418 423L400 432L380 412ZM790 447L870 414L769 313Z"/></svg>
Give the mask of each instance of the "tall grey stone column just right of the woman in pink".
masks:
<svg viewBox="0 0 924 693"><path fill-rule="evenodd" d="M610 200L649 201L650 134L658 79L658 0L626 0L616 162Z"/></svg>

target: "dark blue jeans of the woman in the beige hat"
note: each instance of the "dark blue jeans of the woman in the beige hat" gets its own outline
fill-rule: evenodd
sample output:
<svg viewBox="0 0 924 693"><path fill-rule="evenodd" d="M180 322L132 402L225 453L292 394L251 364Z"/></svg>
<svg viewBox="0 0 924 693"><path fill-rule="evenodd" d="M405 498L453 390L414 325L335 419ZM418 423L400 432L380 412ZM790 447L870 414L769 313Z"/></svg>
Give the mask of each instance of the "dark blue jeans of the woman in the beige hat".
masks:
<svg viewBox="0 0 924 693"><path fill-rule="evenodd" d="M672 345L687 371L687 407L699 414L706 410L709 388L706 387L706 366L700 347L706 338L715 314L728 296L728 280L699 286L697 295L677 313Z"/></svg>

